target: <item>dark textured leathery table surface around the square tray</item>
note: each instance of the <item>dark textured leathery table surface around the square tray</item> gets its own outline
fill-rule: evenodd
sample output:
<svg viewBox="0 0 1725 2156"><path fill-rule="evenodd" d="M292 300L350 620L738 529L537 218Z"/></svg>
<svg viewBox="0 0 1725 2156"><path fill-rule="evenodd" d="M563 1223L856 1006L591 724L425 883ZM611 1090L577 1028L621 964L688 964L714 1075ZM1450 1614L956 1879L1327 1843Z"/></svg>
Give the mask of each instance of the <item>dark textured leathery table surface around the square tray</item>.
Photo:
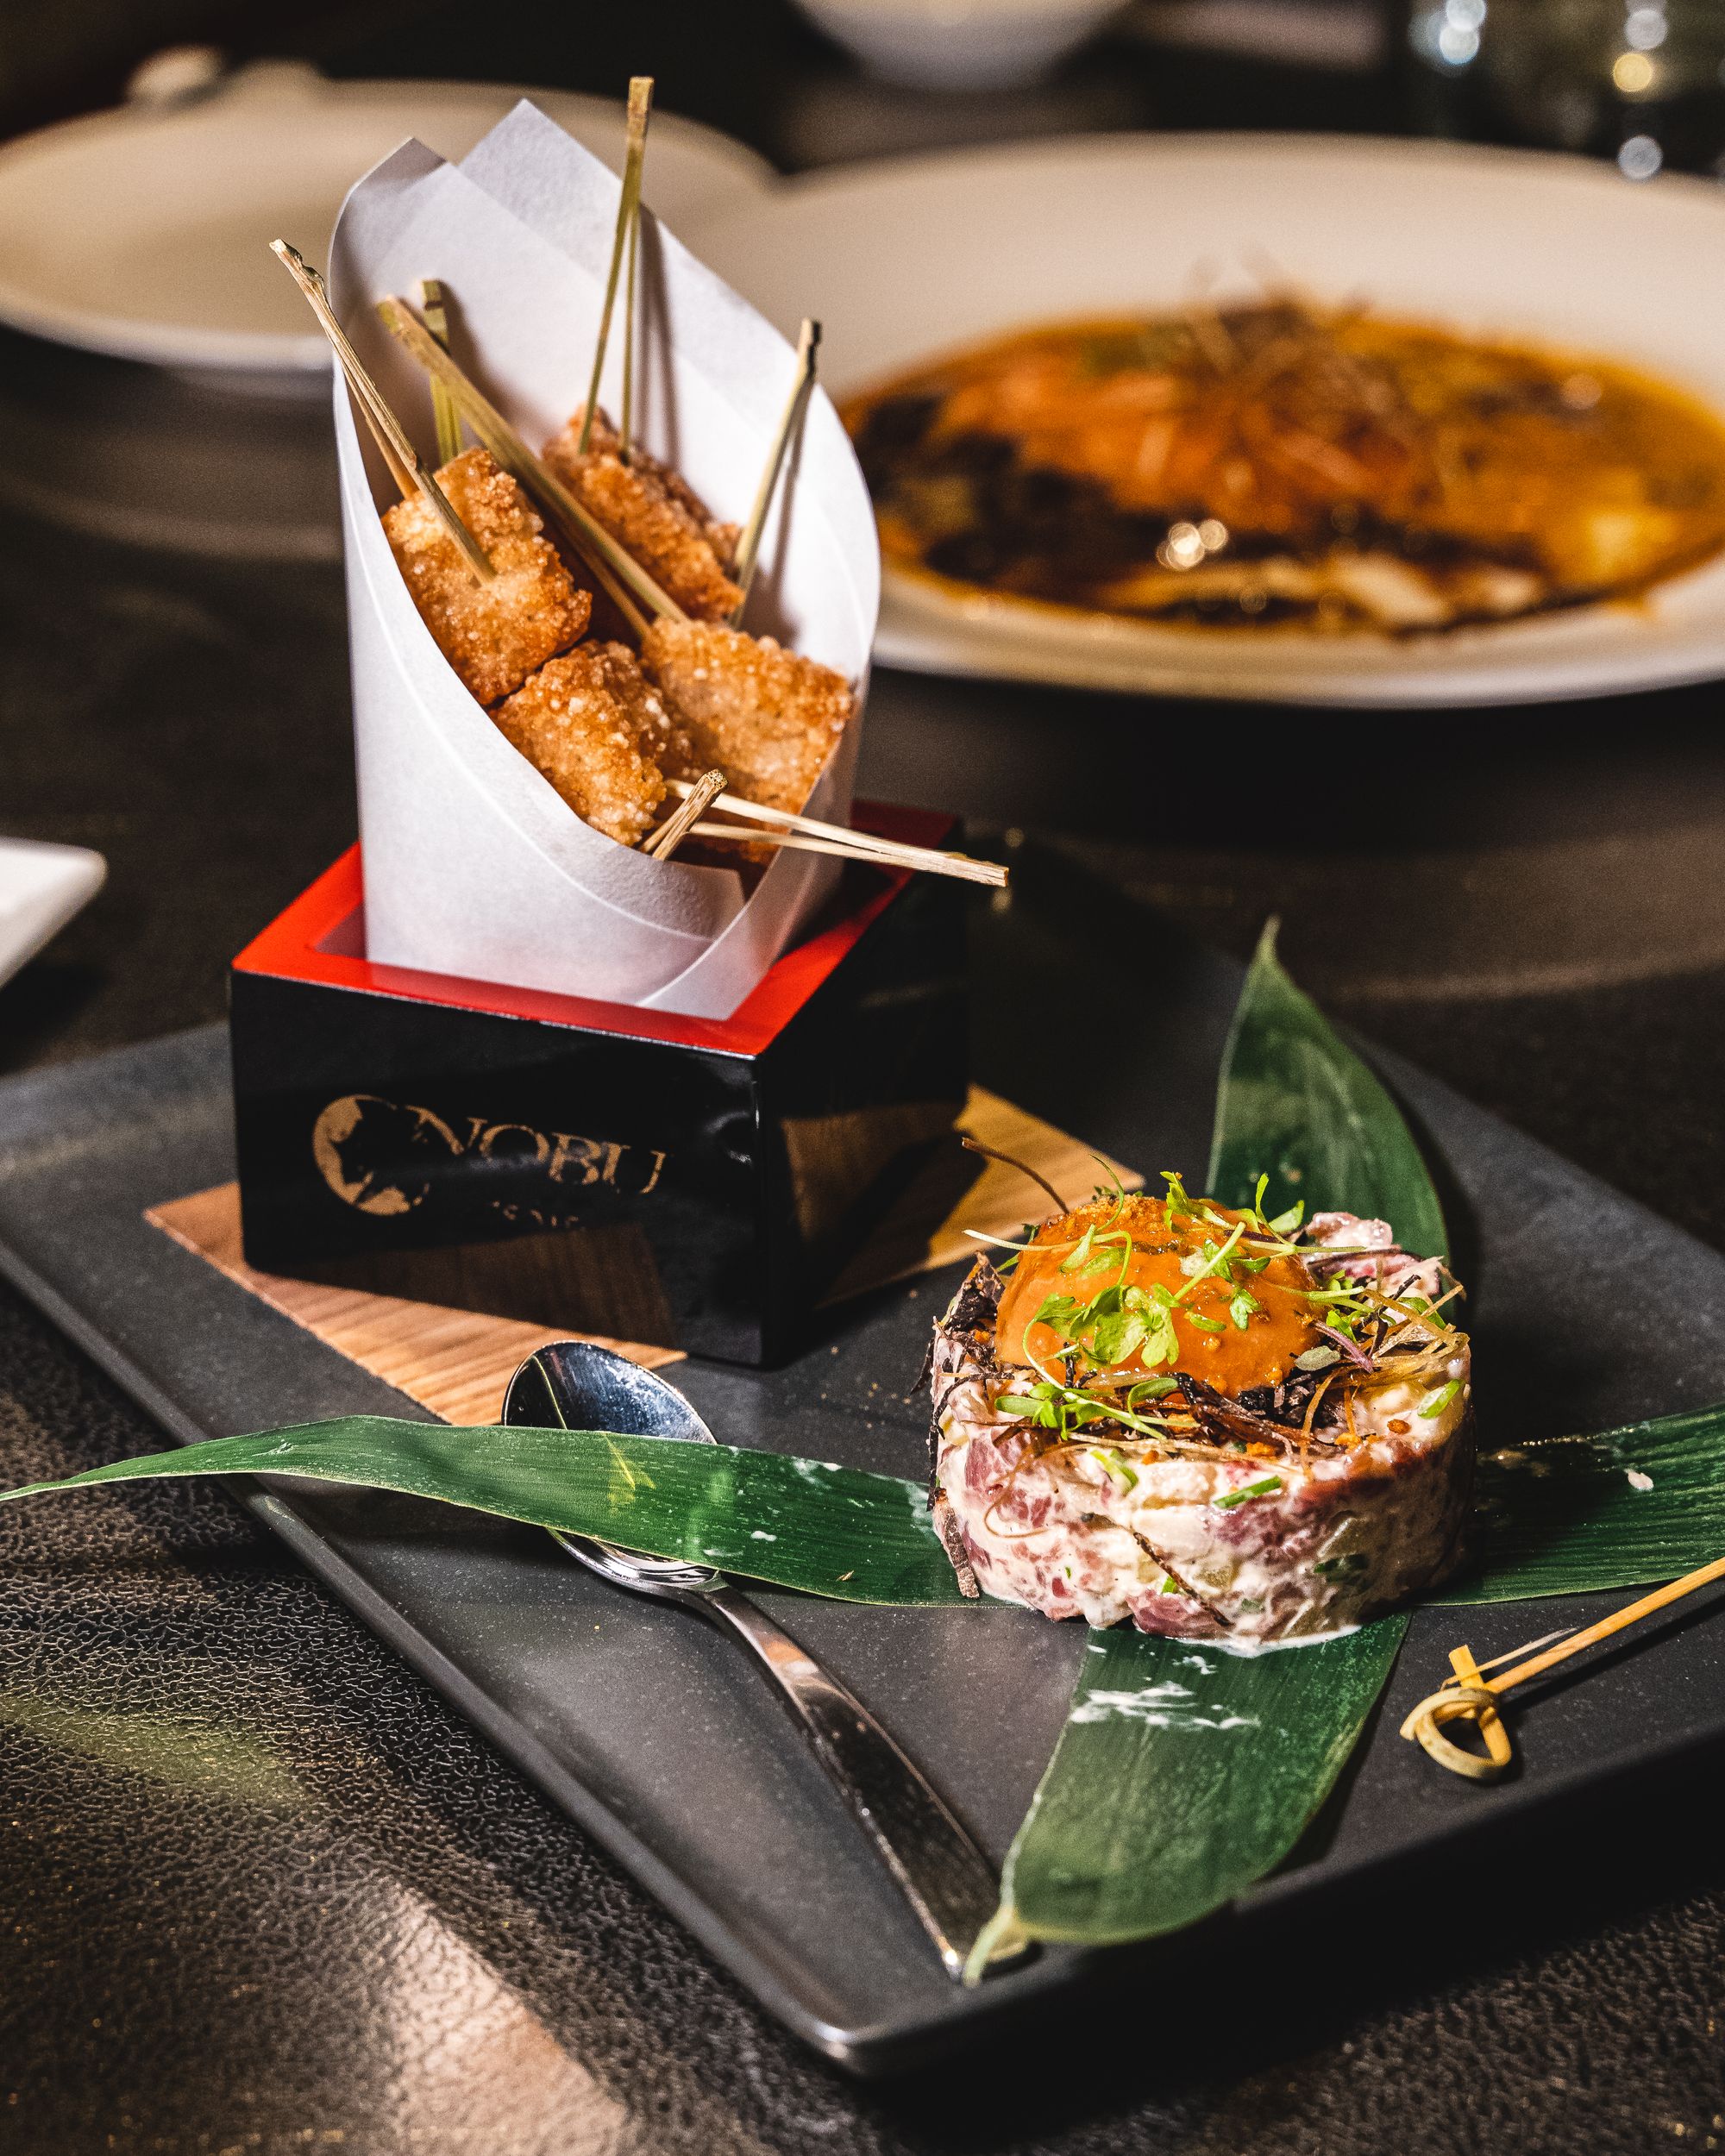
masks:
<svg viewBox="0 0 1725 2156"><path fill-rule="evenodd" d="M0 392L26 373L0 351ZM1022 938L1093 959L1151 906L1242 951L1279 908L1337 1013L1725 1246L1719 690L1307 744L1266 714L884 675L865 787L1016 845L1022 897L977 914L985 990ZM0 530L0 832L112 869L0 990L0 1069L220 1015L226 957L351 826L332 567ZM979 1076L1041 1082L1052 1028L1000 1007ZM0 1298L0 1481L155 1442ZM0 1723L19 2156L1725 2143L1716 1759L1453 1893L1337 1910L1236 1996L1123 1996L858 2089L218 1488L0 1514Z"/></svg>

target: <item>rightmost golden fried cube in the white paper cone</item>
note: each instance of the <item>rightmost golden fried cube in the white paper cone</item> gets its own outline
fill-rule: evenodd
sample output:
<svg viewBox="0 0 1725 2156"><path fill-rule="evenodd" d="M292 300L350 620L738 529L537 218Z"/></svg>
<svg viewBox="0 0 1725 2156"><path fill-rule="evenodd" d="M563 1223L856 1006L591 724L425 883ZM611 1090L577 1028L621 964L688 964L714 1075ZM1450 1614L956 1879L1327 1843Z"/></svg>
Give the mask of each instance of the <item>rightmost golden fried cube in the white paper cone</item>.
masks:
<svg viewBox="0 0 1725 2156"><path fill-rule="evenodd" d="M647 673L684 722L699 770L718 765L733 793L800 811L852 720L843 675L714 621L651 623Z"/></svg>

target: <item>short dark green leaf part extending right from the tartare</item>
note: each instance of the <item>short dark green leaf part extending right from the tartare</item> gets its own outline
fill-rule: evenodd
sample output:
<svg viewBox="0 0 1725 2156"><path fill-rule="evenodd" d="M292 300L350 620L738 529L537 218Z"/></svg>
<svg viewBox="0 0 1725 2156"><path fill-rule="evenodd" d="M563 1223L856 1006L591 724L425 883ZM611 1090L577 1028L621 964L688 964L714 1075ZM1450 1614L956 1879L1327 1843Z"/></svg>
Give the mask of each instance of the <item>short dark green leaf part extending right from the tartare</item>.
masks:
<svg viewBox="0 0 1725 2156"><path fill-rule="evenodd" d="M1434 1602L1652 1587L1725 1552L1725 1406L1488 1453L1468 1565Z"/></svg>

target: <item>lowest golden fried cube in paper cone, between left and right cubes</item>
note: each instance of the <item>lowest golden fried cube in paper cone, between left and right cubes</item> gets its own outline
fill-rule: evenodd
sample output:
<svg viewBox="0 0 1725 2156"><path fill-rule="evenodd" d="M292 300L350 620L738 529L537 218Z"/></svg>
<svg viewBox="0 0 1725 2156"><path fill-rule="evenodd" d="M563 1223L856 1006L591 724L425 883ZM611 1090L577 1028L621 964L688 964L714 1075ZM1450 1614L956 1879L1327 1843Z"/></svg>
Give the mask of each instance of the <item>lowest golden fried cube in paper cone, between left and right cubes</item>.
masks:
<svg viewBox="0 0 1725 2156"><path fill-rule="evenodd" d="M625 645L580 645L548 660L494 714L502 733L576 815L638 845L664 802L664 768L690 744Z"/></svg>

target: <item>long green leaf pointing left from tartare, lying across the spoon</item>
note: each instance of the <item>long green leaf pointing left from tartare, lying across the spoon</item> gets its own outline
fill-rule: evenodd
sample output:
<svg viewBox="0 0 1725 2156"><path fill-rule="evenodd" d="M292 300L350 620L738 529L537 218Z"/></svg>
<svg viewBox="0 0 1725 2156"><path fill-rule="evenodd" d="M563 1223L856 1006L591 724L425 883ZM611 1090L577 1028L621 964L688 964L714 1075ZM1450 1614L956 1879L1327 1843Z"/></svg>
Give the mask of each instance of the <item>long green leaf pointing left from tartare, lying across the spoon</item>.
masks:
<svg viewBox="0 0 1725 2156"><path fill-rule="evenodd" d="M399 1490L839 1602L964 1604L921 1483L787 1453L604 1429L461 1429L349 1414L114 1460L63 1481L4 1490L0 1503L181 1475L306 1475Z"/></svg>

